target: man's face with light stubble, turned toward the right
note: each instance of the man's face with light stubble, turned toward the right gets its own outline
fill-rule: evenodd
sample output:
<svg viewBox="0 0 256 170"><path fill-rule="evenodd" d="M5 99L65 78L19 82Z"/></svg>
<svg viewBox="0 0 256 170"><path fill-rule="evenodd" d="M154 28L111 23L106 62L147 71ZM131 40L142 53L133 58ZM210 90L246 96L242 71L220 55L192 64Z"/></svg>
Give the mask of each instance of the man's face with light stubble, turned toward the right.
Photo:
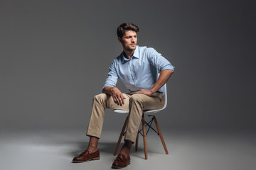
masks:
<svg viewBox="0 0 256 170"><path fill-rule="evenodd" d="M121 38L118 38L124 50L135 50L137 45L137 33L134 30L126 30Z"/></svg>

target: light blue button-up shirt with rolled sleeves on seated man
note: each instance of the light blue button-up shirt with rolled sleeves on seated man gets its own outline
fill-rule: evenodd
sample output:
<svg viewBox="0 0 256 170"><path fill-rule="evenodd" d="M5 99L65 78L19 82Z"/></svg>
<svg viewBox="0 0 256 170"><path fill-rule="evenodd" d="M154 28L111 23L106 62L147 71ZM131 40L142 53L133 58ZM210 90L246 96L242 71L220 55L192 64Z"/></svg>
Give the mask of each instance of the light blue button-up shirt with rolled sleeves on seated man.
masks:
<svg viewBox="0 0 256 170"><path fill-rule="evenodd" d="M131 60L122 52L112 61L103 89L116 86L117 80L121 79L129 91L149 90L156 83L158 72L164 69L174 70L174 66L154 48L137 45ZM163 90L159 89L159 92Z"/></svg>

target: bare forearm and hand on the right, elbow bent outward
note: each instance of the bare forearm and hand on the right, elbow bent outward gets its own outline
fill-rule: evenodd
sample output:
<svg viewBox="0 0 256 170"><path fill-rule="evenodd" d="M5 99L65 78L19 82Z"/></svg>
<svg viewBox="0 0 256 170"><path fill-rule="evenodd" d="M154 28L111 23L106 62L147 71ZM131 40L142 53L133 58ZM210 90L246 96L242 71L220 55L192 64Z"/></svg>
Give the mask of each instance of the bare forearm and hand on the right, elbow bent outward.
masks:
<svg viewBox="0 0 256 170"><path fill-rule="evenodd" d="M173 74L174 70L171 69L164 69L160 72L159 79L156 81L156 84L152 86L150 90L142 89L137 92L137 94L146 94L147 96L152 96L154 92L158 91L171 77L171 74Z"/></svg>

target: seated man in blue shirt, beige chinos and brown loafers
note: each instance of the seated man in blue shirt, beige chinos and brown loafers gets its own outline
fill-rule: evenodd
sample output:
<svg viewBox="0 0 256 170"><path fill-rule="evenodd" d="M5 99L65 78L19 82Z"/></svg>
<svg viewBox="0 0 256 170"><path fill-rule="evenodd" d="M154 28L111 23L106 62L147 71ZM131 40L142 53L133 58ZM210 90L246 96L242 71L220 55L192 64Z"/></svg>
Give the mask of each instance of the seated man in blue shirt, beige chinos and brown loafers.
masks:
<svg viewBox="0 0 256 170"><path fill-rule="evenodd" d="M117 28L117 36L123 52L113 60L110 66L110 72L103 86L103 94L93 98L92 113L87 128L90 142L85 152L75 157L73 162L100 159L97 144L102 132L105 109L112 108L129 110L124 145L117 159L114 160L112 168L127 166L130 164L130 149L136 140L142 120L142 111L164 106L161 86L171 77L174 67L153 48L139 47L138 31L139 28L132 23L122 23ZM158 72L160 72L159 78ZM129 94L122 94L117 89L118 79L121 79L129 89Z"/></svg>

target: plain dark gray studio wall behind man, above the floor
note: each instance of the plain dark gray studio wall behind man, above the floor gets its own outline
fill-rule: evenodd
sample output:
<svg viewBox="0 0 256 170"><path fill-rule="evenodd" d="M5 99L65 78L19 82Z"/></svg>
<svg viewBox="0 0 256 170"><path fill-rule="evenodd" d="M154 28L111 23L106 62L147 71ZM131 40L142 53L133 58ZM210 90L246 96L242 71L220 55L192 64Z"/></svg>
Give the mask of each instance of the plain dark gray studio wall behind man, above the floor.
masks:
<svg viewBox="0 0 256 170"><path fill-rule="evenodd" d="M176 67L161 128L255 130L255 2L180 0L1 0L1 130L86 130L124 22Z"/></svg>

